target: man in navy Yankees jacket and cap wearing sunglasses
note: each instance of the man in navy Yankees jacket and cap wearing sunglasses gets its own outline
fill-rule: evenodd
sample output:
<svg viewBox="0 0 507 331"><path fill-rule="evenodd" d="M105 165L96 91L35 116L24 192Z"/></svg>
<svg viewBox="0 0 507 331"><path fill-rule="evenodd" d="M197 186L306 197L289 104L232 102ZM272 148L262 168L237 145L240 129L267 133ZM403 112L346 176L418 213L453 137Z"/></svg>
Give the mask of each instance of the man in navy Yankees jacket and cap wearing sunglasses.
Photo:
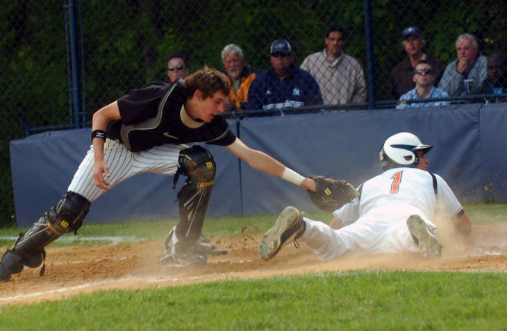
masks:
<svg viewBox="0 0 507 331"><path fill-rule="evenodd" d="M258 74L251 83L247 109L321 105L319 85L312 75L294 65L294 54L289 42L275 40L270 51L272 67Z"/></svg>

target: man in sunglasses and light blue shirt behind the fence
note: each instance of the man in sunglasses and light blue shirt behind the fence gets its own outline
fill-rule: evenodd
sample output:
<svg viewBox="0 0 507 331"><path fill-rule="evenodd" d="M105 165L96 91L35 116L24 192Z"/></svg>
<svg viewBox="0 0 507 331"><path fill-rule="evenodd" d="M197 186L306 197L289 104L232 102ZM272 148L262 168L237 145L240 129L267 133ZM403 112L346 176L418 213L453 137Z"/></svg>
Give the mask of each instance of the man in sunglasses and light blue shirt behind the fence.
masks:
<svg viewBox="0 0 507 331"><path fill-rule="evenodd" d="M402 95L400 99L401 103L397 108L408 108L408 107L432 107L436 105L449 105L449 101L430 101L430 102L416 102L406 103L407 100L424 100L424 99L435 99L435 98L448 98L449 94L444 90L440 90L438 87L433 86L435 82L435 70L431 67L431 64L422 60L415 65L413 80L415 87Z"/></svg>

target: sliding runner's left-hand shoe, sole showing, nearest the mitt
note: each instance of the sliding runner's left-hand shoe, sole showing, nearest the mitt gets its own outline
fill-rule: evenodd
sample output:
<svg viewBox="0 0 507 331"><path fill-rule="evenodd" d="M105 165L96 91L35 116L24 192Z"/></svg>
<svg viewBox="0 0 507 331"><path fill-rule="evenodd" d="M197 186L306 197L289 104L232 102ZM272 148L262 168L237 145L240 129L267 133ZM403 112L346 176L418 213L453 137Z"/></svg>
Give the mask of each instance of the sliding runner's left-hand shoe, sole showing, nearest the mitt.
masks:
<svg viewBox="0 0 507 331"><path fill-rule="evenodd" d="M297 208L289 206L281 212L274 226L264 234L259 245L259 256L263 260L270 260L280 251L283 245L301 237L306 228L306 223Z"/></svg>

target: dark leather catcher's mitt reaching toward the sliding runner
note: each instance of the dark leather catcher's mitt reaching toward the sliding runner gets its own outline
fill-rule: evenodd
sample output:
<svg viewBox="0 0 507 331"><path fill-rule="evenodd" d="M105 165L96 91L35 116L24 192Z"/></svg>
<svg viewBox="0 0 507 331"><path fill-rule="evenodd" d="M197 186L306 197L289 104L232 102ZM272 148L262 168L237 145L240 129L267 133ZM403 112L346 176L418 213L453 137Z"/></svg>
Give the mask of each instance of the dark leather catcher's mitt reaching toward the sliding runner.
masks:
<svg viewBox="0 0 507 331"><path fill-rule="evenodd" d="M306 190L315 207L324 212L334 212L359 196L356 187L347 180L333 180L324 176L310 176L315 180L317 192Z"/></svg>

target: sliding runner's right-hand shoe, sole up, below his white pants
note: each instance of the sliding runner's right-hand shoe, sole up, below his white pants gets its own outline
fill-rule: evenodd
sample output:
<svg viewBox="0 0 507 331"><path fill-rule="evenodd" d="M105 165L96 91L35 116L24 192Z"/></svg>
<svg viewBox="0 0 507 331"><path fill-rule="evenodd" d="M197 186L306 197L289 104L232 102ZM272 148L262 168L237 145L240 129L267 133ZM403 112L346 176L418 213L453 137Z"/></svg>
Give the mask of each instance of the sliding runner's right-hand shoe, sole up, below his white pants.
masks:
<svg viewBox="0 0 507 331"><path fill-rule="evenodd" d="M437 258L442 255L442 245L438 237L429 230L426 222L419 215L412 215L407 219L408 230L419 244L419 253L426 258Z"/></svg>

